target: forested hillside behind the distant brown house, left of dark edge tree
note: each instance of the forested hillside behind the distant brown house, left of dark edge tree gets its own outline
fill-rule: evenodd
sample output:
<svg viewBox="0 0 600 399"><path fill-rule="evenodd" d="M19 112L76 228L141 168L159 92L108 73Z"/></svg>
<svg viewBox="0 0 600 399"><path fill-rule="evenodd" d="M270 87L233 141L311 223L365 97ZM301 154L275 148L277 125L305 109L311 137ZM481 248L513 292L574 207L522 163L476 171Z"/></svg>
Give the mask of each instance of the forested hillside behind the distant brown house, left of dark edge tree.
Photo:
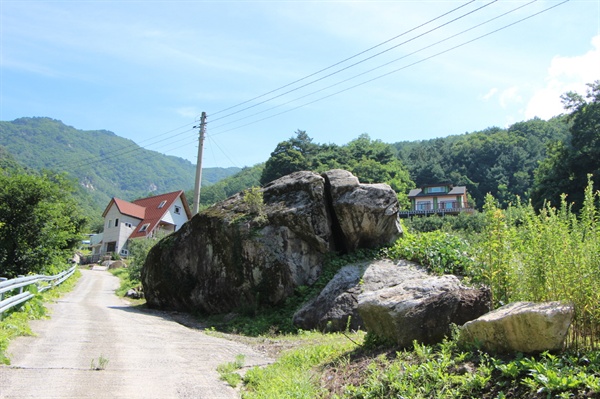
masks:
<svg viewBox="0 0 600 399"><path fill-rule="evenodd" d="M565 117L531 119L508 129L483 131L425 141L394 144L417 186L450 182L465 185L475 204L487 193L501 204L516 196L529 199L534 172L546 158L549 143L569 136Z"/></svg>

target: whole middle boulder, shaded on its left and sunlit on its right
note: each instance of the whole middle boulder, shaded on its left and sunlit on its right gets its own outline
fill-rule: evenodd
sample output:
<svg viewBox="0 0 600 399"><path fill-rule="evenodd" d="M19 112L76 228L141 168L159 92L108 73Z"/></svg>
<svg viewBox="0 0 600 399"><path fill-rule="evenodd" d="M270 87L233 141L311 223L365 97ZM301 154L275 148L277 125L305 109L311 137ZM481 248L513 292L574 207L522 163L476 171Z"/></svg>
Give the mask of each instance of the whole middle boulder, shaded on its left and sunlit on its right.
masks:
<svg viewBox="0 0 600 399"><path fill-rule="evenodd" d="M401 295L388 296L390 292ZM389 302L377 299L380 294ZM402 345L413 339L437 342L450 333L451 323L473 320L489 306L487 290L463 287L454 276L432 276L406 260L375 260L340 269L316 298L296 312L294 324L327 331L366 327ZM403 312L395 314L400 307Z"/></svg>

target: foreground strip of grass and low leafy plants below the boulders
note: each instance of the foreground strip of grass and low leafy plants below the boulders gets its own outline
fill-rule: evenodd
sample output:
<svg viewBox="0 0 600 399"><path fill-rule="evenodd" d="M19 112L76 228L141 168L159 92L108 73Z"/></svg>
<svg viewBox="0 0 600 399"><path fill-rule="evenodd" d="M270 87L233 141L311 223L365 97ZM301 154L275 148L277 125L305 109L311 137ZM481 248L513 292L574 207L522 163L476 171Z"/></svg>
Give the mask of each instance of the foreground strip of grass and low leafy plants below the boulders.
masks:
<svg viewBox="0 0 600 399"><path fill-rule="evenodd" d="M351 338L361 342L364 333ZM492 356L415 343L409 349L357 346L343 334L287 335L295 348L243 378L244 399L584 398L600 395L600 351Z"/></svg>

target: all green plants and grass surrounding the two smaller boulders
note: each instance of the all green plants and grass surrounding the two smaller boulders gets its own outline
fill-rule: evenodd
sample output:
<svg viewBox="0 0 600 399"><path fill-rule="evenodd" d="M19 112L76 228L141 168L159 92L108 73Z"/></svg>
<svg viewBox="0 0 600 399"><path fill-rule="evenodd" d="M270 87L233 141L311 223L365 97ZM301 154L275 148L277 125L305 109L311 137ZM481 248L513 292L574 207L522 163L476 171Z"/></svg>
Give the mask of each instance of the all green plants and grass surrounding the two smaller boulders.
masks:
<svg viewBox="0 0 600 399"><path fill-rule="evenodd" d="M345 264L387 257L486 285L494 307L571 302L575 320L562 353L486 353L460 346L457 333L438 345L398 348L362 331L295 329L294 310L322 286L300 288L281 308L203 321L213 331L256 337L247 342L275 348L274 364L240 375L244 398L600 397L600 192L593 192L591 179L583 198L576 213L565 197L559 208L536 212L520 202L501 209L488 196L469 223L452 217L407 221L404 238L388 248L330 259L319 283ZM423 228L431 225L439 229Z"/></svg>

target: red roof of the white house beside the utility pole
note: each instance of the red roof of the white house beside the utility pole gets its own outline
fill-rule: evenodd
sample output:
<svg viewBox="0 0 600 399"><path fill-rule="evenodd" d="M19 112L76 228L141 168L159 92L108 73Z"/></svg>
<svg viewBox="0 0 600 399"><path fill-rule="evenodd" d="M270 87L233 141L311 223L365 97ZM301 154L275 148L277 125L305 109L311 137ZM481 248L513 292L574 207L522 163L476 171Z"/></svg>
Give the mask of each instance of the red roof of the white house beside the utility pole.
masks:
<svg viewBox="0 0 600 399"><path fill-rule="evenodd" d="M113 198L104 210L102 216L105 217L112 205L115 204L121 214L132 216L141 220L129 238L145 237L156 228L165 213L167 213L171 205L173 205L173 203L179 197L181 197L181 202L183 204L183 208L185 209L185 213L188 219L190 219L192 217L192 213L190 212L190 208L187 204L187 200L185 199L183 190L161 194L154 197L142 198L133 202L127 202L119 198ZM146 227L144 231L140 231L142 226L145 225L148 225L148 227Z"/></svg>

